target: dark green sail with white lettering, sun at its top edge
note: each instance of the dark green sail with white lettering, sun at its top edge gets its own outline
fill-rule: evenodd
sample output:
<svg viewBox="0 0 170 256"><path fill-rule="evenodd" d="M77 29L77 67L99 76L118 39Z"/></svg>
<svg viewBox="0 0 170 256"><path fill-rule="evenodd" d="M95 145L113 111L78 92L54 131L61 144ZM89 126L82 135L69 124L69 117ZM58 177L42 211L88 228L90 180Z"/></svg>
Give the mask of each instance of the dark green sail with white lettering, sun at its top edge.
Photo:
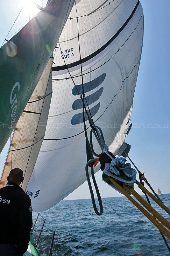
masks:
<svg viewBox="0 0 170 256"><path fill-rule="evenodd" d="M56 46L74 0L50 0L0 48L0 152Z"/></svg>

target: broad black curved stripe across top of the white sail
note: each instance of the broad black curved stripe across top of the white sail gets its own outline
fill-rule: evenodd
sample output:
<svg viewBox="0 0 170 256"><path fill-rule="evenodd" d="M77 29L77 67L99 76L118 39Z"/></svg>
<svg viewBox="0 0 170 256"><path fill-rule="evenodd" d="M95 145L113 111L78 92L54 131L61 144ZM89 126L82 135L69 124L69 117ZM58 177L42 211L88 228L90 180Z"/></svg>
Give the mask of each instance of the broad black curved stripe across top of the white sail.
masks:
<svg viewBox="0 0 170 256"><path fill-rule="evenodd" d="M64 70L64 69L68 69L68 68L73 68L77 65L80 65L90 59L92 59L93 57L95 57L97 54L99 54L100 52L102 52L109 44L111 44L113 42L113 40L115 40L117 38L117 36L122 32L122 30L126 27L126 25L128 24L128 22L131 20L131 18L133 17L134 13L137 10L137 7L139 5L139 1L137 2L135 8L133 9L131 15L129 16L129 18L125 21L125 23L122 25L122 27L117 31L117 33L106 43L104 44L101 48L99 48L96 52L90 54L89 56L81 59L81 60L77 60L73 63L70 63L68 65L63 65L63 66L57 66L57 67L53 67L52 71L60 71L60 70Z"/></svg>

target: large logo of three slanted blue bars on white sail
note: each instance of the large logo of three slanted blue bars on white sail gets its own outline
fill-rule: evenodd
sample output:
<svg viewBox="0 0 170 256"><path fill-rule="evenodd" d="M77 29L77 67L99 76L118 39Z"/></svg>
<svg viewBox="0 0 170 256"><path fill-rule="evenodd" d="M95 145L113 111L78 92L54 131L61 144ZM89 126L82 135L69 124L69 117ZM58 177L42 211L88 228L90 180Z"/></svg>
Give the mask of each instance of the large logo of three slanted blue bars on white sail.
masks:
<svg viewBox="0 0 170 256"><path fill-rule="evenodd" d="M93 89L97 88L99 85L101 85L104 81L106 77L106 73L103 73L102 75L98 76L97 78L95 78L94 80L88 82L88 83L85 83L83 84L83 87L84 87L84 92L90 92L92 91ZM78 90L77 90L77 89ZM74 87L72 89L72 94L74 96L76 95L79 95L79 92L82 93L82 84L79 84L77 85L76 87ZM103 87L101 87L100 89L98 89L96 92L90 94L89 96L86 97L86 100L85 100L85 106L89 106L90 104L96 102L100 96L102 95L103 93ZM82 109L83 108L83 103L82 103L82 100L81 99L77 99L73 102L73 105L72 105L72 108L74 110L77 110L77 109ZM95 116L96 113L98 112L100 108L100 102L97 103L94 107L90 108L87 112L89 113L90 111L90 114L91 116ZM88 116L87 114L85 113L85 121L88 120ZM78 114L75 114L72 119L71 119L71 124L74 125L74 124L81 124L83 123L83 115L82 115L82 112L81 113L78 113Z"/></svg>

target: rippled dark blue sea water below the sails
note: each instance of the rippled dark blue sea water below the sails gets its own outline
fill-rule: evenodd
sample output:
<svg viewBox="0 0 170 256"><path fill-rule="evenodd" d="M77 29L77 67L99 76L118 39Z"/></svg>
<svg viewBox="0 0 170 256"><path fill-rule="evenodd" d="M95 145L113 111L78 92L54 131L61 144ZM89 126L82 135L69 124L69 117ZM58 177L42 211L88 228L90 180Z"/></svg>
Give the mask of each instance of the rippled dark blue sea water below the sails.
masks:
<svg viewBox="0 0 170 256"><path fill-rule="evenodd" d="M170 194L162 195L161 200L170 208ZM42 212L46 222L38 244L39 255L47 255L52 230L56 231L52 253L56 256L170 255L159 230L126 197L103 198L102 202L101 216L94 212L91 199L63 200ZM162 208L152 200L151 204L170 221ZM42 223L39 216L33 233L35 242Z"/></svg>

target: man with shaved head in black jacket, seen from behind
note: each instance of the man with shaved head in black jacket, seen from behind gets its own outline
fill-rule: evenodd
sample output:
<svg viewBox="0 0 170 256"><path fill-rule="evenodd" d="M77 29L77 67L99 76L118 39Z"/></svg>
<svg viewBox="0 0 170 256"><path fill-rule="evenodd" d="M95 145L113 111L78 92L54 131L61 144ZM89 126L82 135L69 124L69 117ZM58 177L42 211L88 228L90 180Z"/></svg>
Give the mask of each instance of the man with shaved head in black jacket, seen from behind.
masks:
<svg viewBox="0 0 170 256"><path fill-rule="evenodd" d="M0 189L0 256L22 256L32 228L31 199L19 187L23 171L12 169L6 187Z"/></svg>

